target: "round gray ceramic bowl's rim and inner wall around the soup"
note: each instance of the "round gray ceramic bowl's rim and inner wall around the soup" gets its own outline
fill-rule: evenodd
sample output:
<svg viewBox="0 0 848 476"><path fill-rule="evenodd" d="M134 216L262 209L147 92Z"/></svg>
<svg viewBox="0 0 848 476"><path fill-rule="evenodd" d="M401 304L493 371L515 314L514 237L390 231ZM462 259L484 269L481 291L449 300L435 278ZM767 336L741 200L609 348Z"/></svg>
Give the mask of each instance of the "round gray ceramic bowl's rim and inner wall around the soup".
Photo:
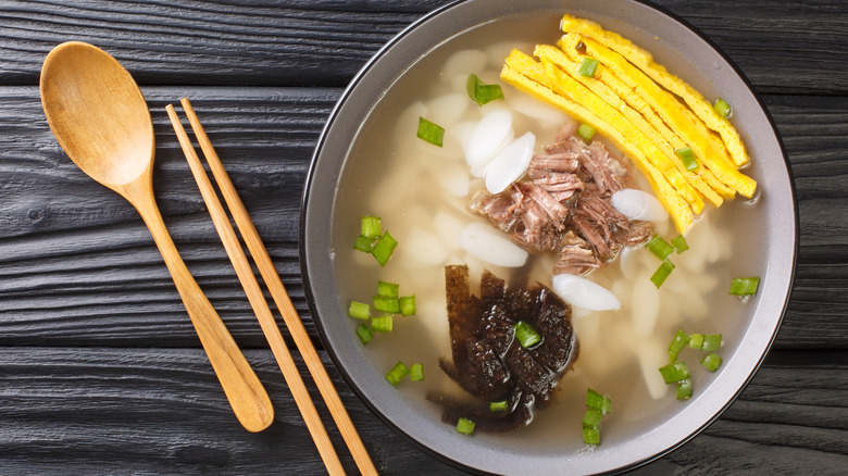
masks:
<svg viewBox="0 0 848 476"><path fill-rule="evenodd" d="M356 277L341 276L337 253L348 251L358 216L350 216L346 190L365 187L353 162L360 134L376 134L367 124L396 80L415 70L422 58L438 53L445 40L469 30L498 40L504 25L516 22L525 39L552 42L565 12L588 17L648 48L658 62L707 97L721 93L734 105L734 123L747 142L752 165L746 173L759 183L753 218L734 224L752 237L738 240L739 270L760 270L760 290L741 315L723 329L724 364L696 396L684 403L668 399L668 411L604 431L595 451L556 442L538 444L499 436L466 437L438 418L439 410L420 397L400 392L385 380L387 368L353 334L347 317L350 299L342 289ZM514 28L513 28L514 29ZM364 125L364 126L363 126ZM344 210L344 213L340 212ZM301 267L310 310L324 346L360 399L387 425L413 443L460 467L502 474L594 474L623 471L649 462L683 444L726 409L753 376L769 350L788 300L797 249L797 212L785 152L771 117L739 71L702 35L674 15L633 0L545 1L470 0L423 17L386 45L357 75L340 98L319 140L309 171L301 211ZM736 260L736 259L735 259ZM739 271L740 273L743 271ZM345 284L345 286L342 286ZM722 310L718 310L722 311ZM448 337L445 336L445 339ZM431 368L431 372L439 372ZM579 431L575 428L574 431ZM506 438L506 437L503 437Z"/></svg>

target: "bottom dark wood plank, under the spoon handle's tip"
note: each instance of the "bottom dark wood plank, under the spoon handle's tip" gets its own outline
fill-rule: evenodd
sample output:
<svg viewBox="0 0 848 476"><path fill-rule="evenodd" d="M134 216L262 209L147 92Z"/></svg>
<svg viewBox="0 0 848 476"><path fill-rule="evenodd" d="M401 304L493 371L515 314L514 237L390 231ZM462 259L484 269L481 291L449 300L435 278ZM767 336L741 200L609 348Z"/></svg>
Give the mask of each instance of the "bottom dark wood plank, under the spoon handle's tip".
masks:
<svg viewBox="0 0 848 476"><path fill-rule="evenodd" d="M261 434L236 423L199 349L7 348L0 472L321 474L271 353L247 355L276 409ZM848 464L848 353L819 361L778 353L716 423L636 474L837 474ZM381 474L460 474L371 416L332 366L331 376Z"/></svg>

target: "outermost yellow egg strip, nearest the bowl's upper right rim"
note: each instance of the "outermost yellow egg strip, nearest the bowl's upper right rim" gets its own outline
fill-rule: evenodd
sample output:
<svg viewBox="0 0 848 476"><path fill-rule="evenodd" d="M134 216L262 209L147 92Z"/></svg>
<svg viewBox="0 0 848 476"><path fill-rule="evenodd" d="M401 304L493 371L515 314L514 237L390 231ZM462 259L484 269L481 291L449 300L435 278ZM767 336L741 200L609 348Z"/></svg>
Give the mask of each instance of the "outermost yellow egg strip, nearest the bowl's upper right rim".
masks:
<svg viewBox="0 0 848 476"><path fill-rule="evenodd" d="M748 163L748 153L736 128L726 118L721 117L700 92L679 77L669 73L661 64L657 64L650 52L639 48L621 35L604 30L597 23L585 18L577 18L566 14L560 21L560 28L565 33L576 33L593 38L610 48L635 64L654 82L679 96L695 114L703 121L707 127L721 135L724 147L731 153L733 162L737 167Z"/></svg>

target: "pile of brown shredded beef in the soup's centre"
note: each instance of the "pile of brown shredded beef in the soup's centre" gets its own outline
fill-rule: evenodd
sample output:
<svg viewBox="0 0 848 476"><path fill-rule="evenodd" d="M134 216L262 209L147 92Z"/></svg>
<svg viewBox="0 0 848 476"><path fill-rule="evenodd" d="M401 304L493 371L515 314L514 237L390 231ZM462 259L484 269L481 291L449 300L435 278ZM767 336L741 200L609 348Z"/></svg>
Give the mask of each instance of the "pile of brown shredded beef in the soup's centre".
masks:
<svg viewBox="0 0 848 476"><path fill-rule="evenodd" d="M576 123L564 126L533 156L526 180L496 195L479 191L470 204L520 245L558 252L554 274L585 274L653 233L650 222L629 221L610 203L613 193L632 186L627 166L575 130Z"/></svg>

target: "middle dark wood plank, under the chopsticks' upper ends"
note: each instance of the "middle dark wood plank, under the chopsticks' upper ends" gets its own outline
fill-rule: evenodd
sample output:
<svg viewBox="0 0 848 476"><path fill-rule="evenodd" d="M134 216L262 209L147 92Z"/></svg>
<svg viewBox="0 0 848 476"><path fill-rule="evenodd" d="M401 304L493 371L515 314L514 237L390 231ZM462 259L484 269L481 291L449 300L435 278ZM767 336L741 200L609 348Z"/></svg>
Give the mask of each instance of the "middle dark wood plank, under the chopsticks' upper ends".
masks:
<svg viewBox="0 0 848 476"><path fill-rule="evenodd" d="M163 108L191 95L314 335L300 285L297 210L339 89L151 87L155 189L201 287L239 343L265 347ZM62 153L34 87L0 88L0 345L192 347L171 278L135 211ZM778 349L848 348L848 98L768 96L798 191L801 243Z"/></svg>

